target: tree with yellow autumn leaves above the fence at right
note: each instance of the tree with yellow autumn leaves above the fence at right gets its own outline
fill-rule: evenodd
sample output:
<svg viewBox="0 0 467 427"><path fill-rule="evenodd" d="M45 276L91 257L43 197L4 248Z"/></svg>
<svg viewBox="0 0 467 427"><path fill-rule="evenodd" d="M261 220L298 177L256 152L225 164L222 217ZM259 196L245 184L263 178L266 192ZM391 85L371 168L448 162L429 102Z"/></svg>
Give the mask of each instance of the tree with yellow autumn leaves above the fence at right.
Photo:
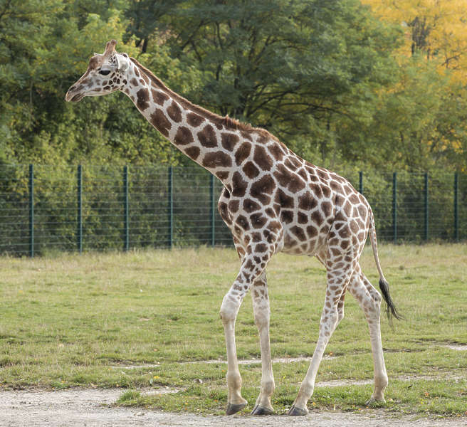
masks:
<svg viewBox="0 0 467 427"><path fill-rule="evenodd" d="M392 156L392 162L425 170L441 164L466 170L464 2L363 2L381 19L397 23L405 31L405 43L397 56L400 80L388 91L387 102L373 123L379 132L386 129L385 135L399 157ZM390 126L384 126L385 114Z"/></svg>

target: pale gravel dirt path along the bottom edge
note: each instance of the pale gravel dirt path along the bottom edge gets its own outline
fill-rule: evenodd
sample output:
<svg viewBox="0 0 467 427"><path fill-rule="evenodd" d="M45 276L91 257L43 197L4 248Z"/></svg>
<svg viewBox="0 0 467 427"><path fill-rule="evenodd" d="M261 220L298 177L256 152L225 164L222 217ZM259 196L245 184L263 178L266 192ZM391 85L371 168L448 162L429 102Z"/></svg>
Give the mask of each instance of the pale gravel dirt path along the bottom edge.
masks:
<svg viewBox="0 0 467 427"><path fill-rule="evenodd" d="M163 392L164 390L162 390ZM306 417L197 416L140 408L110 406L121 389L72 389L63 391L0 391L1 427L147 427L147 426L271 426L271 427L457 427L467 418L388 416L381 410L364 413L312 412Z"/></svg>

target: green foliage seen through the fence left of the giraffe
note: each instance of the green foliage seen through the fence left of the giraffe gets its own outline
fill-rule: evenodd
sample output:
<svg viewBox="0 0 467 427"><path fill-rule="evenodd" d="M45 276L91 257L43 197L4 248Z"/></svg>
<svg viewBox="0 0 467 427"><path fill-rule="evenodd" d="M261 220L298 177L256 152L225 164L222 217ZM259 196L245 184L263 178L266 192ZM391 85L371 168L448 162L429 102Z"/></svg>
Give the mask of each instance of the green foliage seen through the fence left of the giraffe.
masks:
<svg viewBox="0 0 467 427"><path fill-rule="evenodd" d="M169 246L168 167L128 168L130 248ZM173 244L211 244L211 175L191 164L173 168ZM219 216L214 184L217 245L231 246ZM0 166L0 253L25 255L29 248L28 167ZM119 250L125 241L123 167L83 165L81 223L83 250ZM77 168L67 164L34 167L34 251L37 255L78 248Z"/></svg>

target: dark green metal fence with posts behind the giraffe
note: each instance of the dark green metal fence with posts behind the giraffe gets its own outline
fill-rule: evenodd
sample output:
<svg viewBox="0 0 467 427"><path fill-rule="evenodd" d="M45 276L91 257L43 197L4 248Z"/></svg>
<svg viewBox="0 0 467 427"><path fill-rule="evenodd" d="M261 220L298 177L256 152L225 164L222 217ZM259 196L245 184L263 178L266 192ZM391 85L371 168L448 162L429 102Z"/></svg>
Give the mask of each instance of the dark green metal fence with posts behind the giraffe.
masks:
<svg viewBox="0 0 467 427"><path fill-rule="evenodd" d="M467 176L341 171L380 240L467 238ZM230 246L221 183L196 167L0 165L0 253Z"/></svg>

